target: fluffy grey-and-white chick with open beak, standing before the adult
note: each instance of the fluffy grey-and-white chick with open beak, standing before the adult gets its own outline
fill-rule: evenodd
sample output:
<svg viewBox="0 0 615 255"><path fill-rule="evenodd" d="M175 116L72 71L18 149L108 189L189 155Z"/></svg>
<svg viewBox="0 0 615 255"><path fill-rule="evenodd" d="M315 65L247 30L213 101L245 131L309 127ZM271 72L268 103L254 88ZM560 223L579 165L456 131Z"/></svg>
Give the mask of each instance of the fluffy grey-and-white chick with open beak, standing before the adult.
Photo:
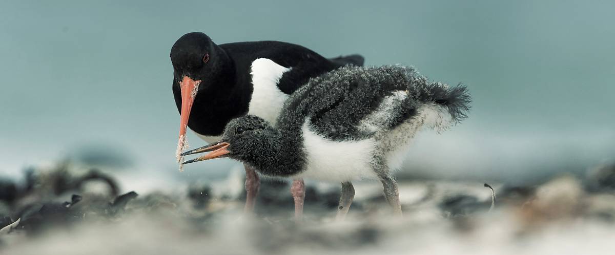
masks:
<svg viewBox="0 0 615 255"><path fill-rule="evenodd" d="M309 80L284 104L276 122L257 116L231 120L220 139L183 155L210 152L185 163L229 157L263 175L313 178L342 184L338 219L354 197L351 181L379 179L401 215L397 183L408 144L423 128L443 131L467 117L463 85L431 82L405 66L346 66ZM293 182L303 208L302 182ZM301 214L295 214L301 220Z"/></svg>

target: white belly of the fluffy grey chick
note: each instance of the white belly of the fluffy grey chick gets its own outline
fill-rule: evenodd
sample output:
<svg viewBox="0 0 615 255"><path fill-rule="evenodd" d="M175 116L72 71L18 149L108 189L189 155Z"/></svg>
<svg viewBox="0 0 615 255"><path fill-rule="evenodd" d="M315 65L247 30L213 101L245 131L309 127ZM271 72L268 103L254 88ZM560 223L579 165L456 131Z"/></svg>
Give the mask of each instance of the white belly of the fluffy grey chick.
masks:
<svg viewBox="0 0 615 255"><path fill-rule="evenodd" d="M315 133L309 120L303 124L303 145L307 154L306 169L298 178L322 181L376 179L371 167L374 139L331 141Z"/></svg>

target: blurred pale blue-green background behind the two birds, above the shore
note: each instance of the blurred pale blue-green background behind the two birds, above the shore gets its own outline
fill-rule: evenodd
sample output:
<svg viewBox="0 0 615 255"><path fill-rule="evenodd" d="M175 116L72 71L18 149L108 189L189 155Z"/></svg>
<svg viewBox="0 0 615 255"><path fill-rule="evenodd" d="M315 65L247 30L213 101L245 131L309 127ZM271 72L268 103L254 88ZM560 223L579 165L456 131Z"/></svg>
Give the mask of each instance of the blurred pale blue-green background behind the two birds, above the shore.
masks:
<svg viewBox="0 0 615 255"><path fill-rule="evenodd" d="M121 170L137 191L224 178L238 163L180 173L175 162L169 52L202 31L218 44L293 42L466 84L469 119L421 133L400 175L583 175L615 159L615 2L597 2L3 1L0 173L72 159Z"/></svg>

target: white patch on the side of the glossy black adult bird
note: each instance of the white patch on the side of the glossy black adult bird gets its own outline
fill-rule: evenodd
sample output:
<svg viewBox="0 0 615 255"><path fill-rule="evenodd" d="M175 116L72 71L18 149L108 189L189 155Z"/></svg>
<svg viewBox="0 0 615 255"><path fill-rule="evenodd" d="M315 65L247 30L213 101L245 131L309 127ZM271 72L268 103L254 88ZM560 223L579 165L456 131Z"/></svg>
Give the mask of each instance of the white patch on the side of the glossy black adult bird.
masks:
<svg viewBox="0 0 615 255"><path fill-rule="evenodd" d="M277 116L282 110L288 95L280 91L277 83L284 73L291 68L285 68L268 58L258 58L252 62L252 84L254 91L250 100L248 114L256 115L267 120L271 125L276 124Z"/></svg>

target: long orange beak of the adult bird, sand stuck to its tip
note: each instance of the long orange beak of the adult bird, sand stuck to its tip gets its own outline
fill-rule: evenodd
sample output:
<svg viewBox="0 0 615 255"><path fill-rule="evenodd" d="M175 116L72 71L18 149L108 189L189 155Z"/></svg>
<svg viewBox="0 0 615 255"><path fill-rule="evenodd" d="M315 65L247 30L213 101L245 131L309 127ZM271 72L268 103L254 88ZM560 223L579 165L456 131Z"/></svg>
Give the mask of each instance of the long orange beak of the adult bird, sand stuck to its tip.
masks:
<svg viewBox="0 0 615 255"><path fill-rule="evenodd" d="M177 161L181 161L181 151L188 149L188 143L186 143L186 128L188 127L188 118L190 117L190 110L192 109L192 103L194 103L194 97L199 88L200 80L192 80L188 76L184 76L180 82L181 89L181 119L180 119L180 138L177 143Z"/></svg>

